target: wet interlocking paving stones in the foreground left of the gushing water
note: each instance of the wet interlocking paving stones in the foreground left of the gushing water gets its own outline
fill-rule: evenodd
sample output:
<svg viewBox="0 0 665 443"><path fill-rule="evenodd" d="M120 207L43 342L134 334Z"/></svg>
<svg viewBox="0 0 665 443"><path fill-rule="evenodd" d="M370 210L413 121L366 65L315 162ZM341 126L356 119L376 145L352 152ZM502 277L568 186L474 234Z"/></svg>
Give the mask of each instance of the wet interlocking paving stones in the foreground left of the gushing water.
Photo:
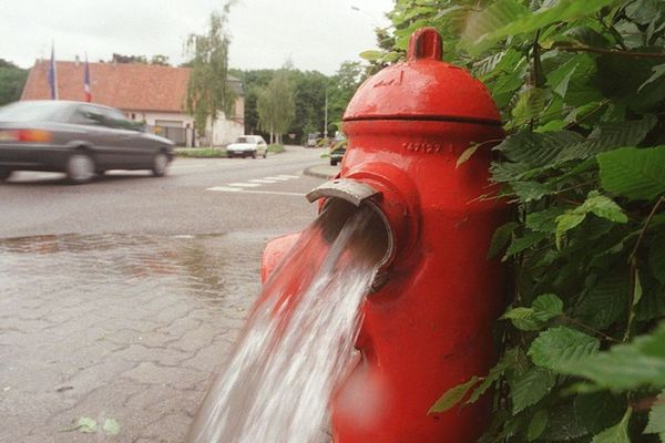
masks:
<svg viewBox="0 0 665 443"><path fill-rule="evenodd" d="M270 237L0 240L0 442L182 442ZM99 426L72 430L80 418Z"/></svg>

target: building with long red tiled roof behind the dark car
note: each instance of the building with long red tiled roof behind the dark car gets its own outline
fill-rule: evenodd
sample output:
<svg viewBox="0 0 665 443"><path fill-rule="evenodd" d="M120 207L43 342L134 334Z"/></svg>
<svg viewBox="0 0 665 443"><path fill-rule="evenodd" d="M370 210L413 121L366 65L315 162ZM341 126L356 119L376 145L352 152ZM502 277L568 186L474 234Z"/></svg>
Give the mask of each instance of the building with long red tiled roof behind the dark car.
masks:
<svg viewBox="0 0 665 443"><path fill-rule="evenodd" d="M49 60L38 60L28 74L21 100L49 100ZM85 63L55 62L58 97L84 101ZM194 119L184 112L190 68L139 63L89 63L92 102L122 110L134 121L144 122L155 132L181 144L192 144ZM224 145L244 133L243 85L229 79L236 90L234 115L223 113L213 128L213 143ZM209 127L209 125L208 125ZM209 130L205 137L209 137ZM209 140L209 138L208 138ZM204 142L205 143L205 142Z"/></svg>

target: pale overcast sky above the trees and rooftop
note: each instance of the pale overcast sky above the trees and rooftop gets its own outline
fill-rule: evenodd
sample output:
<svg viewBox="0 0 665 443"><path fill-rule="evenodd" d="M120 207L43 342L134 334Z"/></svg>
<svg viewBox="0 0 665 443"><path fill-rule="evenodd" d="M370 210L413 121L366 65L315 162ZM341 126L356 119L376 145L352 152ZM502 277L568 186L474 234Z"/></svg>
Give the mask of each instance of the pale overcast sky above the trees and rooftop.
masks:
<svg viewBox="0 0 665 443"><path fill-rule="evenodd" d="M30 68L50 58L109 60L164 54L185 60L186 37L204 33L224 0L1 0L0 59ZM231 10L232 68L332 74L342 61L376 48L374 28L387 27L392 0L239 0Z"/></svg>

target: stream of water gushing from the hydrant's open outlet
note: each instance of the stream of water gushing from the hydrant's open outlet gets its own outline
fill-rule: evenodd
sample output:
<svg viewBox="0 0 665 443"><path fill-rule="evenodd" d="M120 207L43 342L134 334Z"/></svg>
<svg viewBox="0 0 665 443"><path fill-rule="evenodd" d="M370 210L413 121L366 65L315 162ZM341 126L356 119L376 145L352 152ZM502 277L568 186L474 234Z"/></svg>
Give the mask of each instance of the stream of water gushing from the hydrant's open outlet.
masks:
<svg viewBox="0 0 665 443"><path fill-rule="evenodd" d="M387 253L376 212L328 205L267 281L190 443L318 443Z"/></svg>

